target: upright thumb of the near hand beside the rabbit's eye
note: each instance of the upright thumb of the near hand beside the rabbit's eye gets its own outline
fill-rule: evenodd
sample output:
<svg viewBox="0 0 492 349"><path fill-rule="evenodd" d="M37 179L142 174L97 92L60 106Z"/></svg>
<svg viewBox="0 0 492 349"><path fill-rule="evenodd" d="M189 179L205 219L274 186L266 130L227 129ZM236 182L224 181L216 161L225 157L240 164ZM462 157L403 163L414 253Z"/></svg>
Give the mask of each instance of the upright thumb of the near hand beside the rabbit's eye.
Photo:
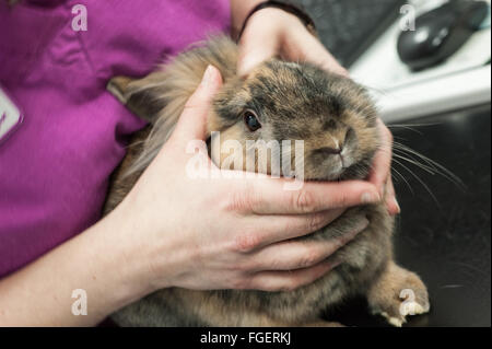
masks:
<svg viewBox="0 0 492 349"><path fill-rule="evenodd" d="M190 140L204 140L207 137L207 117L213 96L222 86L220 71L209 66L203 74L200 85L188 100L179 117L173 139L179 142Z"/></svg>

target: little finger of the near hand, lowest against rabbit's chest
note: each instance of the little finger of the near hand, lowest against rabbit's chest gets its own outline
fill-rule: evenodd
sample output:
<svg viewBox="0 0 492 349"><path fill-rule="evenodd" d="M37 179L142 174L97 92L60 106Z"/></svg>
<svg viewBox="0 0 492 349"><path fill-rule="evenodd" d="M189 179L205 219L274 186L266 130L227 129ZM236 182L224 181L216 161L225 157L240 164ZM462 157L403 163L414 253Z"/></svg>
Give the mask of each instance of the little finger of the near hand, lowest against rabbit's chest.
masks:
<svg viewBox="0 0 492 349"><path fill-rule="evenodd" d="M293 271L262 271L254 275L242 289L266 292L293 291L313 283L339 265L337 261L321 261L320 264Z"/></svg>

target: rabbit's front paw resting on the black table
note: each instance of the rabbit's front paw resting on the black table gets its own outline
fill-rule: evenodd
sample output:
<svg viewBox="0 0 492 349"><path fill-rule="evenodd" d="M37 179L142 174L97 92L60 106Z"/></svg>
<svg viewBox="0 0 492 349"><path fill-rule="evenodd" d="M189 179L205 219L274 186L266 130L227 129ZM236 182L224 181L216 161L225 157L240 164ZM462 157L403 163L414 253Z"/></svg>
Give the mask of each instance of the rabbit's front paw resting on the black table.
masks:
<svg viewBox="0 0 492 349"><path fill-rule="evenodd" d="M367 301L373 314L397 327L407 322L407 316L425 314L431 309L427 289L419 276L393 261L370 289Z"/></svg>

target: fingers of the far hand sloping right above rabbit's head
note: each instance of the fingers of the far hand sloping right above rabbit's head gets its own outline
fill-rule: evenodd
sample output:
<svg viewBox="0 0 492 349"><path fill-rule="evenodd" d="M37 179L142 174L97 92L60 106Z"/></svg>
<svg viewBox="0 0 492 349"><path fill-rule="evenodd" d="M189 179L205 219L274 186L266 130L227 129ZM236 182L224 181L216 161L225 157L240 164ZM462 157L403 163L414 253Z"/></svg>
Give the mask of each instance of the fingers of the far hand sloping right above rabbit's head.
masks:
<svg viewBox="0 0 492 349"><path fill-rule="evenodd" d="M285 37L283 58L292 61L307 61L327 71L349 77L349 72L307 30L293 31Z"/></svg>

